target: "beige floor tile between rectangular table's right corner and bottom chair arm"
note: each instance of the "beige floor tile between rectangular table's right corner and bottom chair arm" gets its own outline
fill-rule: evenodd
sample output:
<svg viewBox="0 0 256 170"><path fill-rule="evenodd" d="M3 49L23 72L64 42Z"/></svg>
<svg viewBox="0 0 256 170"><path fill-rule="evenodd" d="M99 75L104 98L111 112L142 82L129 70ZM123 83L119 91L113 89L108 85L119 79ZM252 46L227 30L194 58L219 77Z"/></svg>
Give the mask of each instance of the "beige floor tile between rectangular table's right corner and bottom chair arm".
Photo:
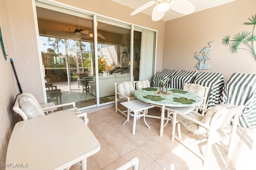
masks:
<svg viewBox="0 0 256 170"><path fill-rule="evenodd" d="M100 168L103 168L104 166L114 162L121 156L111 145L107 145L106 147L102 147L100 149L100 152L92 155L92 157L94 158L98 166Z"/></svg>

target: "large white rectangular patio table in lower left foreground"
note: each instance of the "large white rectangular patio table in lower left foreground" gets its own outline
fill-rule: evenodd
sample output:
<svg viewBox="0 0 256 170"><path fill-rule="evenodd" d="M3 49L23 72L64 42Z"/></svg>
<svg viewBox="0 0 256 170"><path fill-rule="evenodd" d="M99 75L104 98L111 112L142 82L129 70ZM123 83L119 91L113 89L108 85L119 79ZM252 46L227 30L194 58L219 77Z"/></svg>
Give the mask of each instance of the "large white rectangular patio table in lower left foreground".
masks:
<svg viewBox="0 0 256 170"><path fill-rule="evenodd" d="M100 150L92 131L64 111L16 123L6 154L6 170L63 170ZM8 167L7 167L8 166Z"/></svg>

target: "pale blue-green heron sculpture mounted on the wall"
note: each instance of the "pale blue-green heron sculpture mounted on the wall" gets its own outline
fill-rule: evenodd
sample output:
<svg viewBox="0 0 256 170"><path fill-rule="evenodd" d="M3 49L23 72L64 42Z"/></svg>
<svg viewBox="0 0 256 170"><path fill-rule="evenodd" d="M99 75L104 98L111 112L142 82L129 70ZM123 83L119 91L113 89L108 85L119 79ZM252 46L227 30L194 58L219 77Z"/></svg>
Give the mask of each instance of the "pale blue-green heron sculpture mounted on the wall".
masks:
<svg viewBox="0 0 256 170"><path fill-rule="evenodd" d="M206 46L204 47L199 53L196 52L195 53L195 57L196 59L199 60L199 62L196 64L196 68L198 68L199 70L208 70L211 68L211 66L209 64L207 64L207 60L209 60L210 55L212 53L212 43L213 41L210 41L208 43L209 47Z"/></svg>

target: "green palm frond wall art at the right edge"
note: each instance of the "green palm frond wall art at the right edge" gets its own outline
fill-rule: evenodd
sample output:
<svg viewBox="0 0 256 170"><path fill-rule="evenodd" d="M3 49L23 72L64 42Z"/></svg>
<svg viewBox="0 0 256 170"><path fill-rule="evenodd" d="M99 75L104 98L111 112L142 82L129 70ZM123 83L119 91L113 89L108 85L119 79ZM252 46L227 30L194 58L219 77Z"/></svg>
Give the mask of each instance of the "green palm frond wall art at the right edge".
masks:
<svg viewBox="0 0 256 170"><path fill-rule="evenodd" d="M238 32L230 39L230 35L226 35L222 39L222 45L230 46L231 53L237 53L238 49L243 49L250 52L256 59L254 41L256 41L256 35L254 33L256 25L256 14L252 15L252 18L248 18L249 22L244 22L244 25L253 25L252 31Z"/></svg>

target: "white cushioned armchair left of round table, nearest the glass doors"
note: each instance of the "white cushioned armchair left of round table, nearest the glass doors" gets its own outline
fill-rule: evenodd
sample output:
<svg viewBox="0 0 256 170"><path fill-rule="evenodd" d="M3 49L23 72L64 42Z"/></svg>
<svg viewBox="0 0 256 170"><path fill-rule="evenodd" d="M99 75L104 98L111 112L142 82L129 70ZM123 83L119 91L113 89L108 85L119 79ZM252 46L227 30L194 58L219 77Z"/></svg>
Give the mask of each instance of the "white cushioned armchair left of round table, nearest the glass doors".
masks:
<svg viewBox="0 0 256 170"><path fill-rule="evenodd" d="M135 100L134 97L134 86L132 82L120 82L115 83L115 109L116 112L119 111L125 116L128 116L129 111L128 110L121 110L117 107L117 102L127 102L130 100ZM127 115L125 112L127 112Z"/></svg>

